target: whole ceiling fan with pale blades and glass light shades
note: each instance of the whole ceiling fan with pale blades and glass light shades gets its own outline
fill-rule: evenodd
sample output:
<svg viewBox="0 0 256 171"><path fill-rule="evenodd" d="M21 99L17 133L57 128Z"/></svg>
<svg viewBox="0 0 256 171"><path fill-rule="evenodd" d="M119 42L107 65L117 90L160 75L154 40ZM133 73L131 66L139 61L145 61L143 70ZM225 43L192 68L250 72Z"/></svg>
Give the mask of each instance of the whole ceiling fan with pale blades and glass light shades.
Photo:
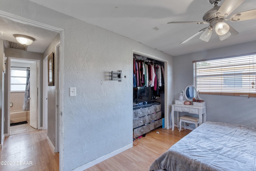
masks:
<svg viewBox="0 0 256 171"><path fill-rule="evenodd" d="M200 40L208 42L212 36L213 30L215 30L219 39L225 40L230 36L236 36L238 32L232 28L229 24L224 21L244 21L244 20L252 20L256 19L256 9L248 10L244 12L239 12L227 18L238 6L240 6L245 0L225 0L221 6L218 6L221 0L209 0L210 4L214 7L207 11L204 16L202 22L168 22L168 24L184 24L184 23L196 23L196 24L209 24L208 27L199 30L180 44L184 44L202 33L200 36Z"/></svg>

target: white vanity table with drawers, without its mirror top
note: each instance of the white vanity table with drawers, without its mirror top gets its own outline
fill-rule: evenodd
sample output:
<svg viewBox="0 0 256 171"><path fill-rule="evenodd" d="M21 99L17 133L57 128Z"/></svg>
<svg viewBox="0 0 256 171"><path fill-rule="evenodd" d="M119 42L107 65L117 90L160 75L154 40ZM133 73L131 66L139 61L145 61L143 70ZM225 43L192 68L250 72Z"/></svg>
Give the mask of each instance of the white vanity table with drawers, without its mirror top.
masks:
<svg viewBox="0 0 256 171"><path fill-rule="evenodd" d="M177 113L177 127L179 127L180 122L180 114L179 112L188 112L192 114L199 115L199 125L204 122L206 122L206 107L205 106L195 106L195 105L180 105L180 104L174 104L172 105L172 112L171 112L171 118L172 118L172 131L174 130L174 111Z"/></svg>

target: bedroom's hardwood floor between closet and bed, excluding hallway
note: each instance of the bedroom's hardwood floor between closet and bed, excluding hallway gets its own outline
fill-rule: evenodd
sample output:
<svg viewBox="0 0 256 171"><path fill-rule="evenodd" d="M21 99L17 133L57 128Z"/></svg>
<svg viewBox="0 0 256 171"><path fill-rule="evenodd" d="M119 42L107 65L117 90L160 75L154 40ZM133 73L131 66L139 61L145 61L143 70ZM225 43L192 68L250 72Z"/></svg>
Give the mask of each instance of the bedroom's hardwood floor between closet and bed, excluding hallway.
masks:
<svg viewBox="0 0 256 171"><path fill-rule="evenodd" d="M159 132L159 133L156 133ZM148 171L153 161L167 151L174 143L190 133L172 129L154 129L138 139L138 145L111 157L86 171ZM136 142L134 141L134 144Z"/></svg>

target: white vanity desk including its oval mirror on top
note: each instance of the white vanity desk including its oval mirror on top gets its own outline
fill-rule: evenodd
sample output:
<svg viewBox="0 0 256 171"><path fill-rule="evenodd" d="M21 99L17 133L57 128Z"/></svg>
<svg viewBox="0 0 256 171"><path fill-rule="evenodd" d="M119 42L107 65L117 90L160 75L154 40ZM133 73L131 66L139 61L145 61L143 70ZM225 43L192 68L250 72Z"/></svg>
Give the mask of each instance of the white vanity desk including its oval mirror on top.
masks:
<svg viewBox="0 0 256 171"><path fill-rule="evenodd" d="M196 90L194 85L188 85L184 90L183 93L180 93L179 100L175 100L175 104L172 105L172 112L171 112L171 119L172 119L172 131L174 130L174 111L177 113L177 127L179 127L180 122L180 113L179 112L187 112L199 115L199 125L206 122L206 105L205 102L196 102L193 104L193 98L203 100L199 97L199 92ZM188 101L191 102L191 105L185 105L183 97L186 97Z"/></svg>

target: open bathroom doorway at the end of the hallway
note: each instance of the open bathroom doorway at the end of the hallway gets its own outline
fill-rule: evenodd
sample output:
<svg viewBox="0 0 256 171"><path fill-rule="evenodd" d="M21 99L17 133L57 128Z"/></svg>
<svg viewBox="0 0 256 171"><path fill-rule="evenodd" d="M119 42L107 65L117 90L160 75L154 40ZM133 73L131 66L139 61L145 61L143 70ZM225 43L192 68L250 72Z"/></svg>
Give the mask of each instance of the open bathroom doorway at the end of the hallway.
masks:
<svg viewBox="0 0 256 171"><path fill-rule="evenodd" d="M34 131L40 127L40 119L38 119L38 108L40 107L38 105L38 98L40 98L40 93L38 94L38 78L40 78L38 66L40 61L10 58L8 64L9 134Z"/></svg>

